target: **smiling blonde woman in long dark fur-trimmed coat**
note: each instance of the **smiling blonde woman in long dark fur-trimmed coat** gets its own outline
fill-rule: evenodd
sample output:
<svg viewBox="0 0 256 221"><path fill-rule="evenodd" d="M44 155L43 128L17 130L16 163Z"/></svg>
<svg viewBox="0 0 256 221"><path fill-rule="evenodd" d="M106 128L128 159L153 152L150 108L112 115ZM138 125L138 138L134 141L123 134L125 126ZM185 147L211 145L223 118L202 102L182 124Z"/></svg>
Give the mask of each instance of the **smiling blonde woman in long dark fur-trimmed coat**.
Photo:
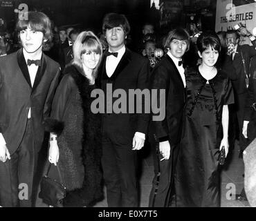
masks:
<svg viewBox="0 0 256 221"><path fill-rule="evenodd" d="M102 57L100 40L91 31L81 32L73 55L46 121L51 132L48 160L59 166L66 186L64 206L90 206L102 197L101 118L91 112L91 91Z"/></svg>

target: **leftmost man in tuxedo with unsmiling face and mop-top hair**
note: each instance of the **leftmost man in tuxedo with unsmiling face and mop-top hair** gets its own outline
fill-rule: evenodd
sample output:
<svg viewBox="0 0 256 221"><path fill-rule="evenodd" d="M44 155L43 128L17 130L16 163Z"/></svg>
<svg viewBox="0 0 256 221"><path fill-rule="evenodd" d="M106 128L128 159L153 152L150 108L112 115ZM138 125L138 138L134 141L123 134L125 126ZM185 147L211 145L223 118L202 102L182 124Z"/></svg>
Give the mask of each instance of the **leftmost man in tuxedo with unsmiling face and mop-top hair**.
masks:
<svg viewBox="0 0 256 221"><path fill-rule="evenodd" d="M17 22L23 48L0 59L0 205L33 206L33 178L60 66L44 55L51 21L27 12Z"/></svg>

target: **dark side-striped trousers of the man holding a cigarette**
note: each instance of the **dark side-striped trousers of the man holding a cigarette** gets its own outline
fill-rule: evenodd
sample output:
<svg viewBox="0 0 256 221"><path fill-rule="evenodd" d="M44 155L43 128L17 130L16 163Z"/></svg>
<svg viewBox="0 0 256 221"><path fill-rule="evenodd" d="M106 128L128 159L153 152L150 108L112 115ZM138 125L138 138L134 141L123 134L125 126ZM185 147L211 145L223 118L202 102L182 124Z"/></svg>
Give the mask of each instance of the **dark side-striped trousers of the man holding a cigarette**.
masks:
<svg viewBox="0 0 256 221"><path fill-rule="evenodd" d="M154 157L154 179L149 195L149 207L168 207L174 194L174 173L179 153L179 145L173 145L170 149L169 160L162 160L163 155L159 151L159 143L150 140Z"/></svg>

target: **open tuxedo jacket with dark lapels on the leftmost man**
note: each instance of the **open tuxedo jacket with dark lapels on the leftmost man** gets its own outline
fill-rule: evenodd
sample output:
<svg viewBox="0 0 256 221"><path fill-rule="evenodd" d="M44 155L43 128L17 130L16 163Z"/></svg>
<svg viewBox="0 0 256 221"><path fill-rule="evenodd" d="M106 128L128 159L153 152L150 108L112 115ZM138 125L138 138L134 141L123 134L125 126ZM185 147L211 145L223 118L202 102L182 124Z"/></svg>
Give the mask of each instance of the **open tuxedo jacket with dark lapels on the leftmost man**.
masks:
<svg viewBox="0 0 256 221"><path fill-rule="evenodd" d="M49 117L53 95L60 76L60 66L42 54L33 87L22 48L0 59L0 133L10 154L24 136L31 108L33 135L37 150L44 139L44 119Z"/></svg>

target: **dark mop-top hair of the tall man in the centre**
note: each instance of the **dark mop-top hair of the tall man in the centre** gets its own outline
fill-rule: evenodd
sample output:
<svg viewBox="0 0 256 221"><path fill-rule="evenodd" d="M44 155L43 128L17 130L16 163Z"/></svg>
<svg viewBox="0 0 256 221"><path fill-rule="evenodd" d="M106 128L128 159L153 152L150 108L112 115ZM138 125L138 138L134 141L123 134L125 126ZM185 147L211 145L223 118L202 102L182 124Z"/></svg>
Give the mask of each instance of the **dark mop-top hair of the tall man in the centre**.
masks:
<svg viewBox="0 0 256 221"><path fill-rule="evenodd" d="M122 27L124 30L125 35L128 35L130 32L130 25L129 21L125 17L125 15L116 14L116 13L109 13L105 15L103 19L102 31L105 34L107 29L115 28L115 27Z"/></svg>

